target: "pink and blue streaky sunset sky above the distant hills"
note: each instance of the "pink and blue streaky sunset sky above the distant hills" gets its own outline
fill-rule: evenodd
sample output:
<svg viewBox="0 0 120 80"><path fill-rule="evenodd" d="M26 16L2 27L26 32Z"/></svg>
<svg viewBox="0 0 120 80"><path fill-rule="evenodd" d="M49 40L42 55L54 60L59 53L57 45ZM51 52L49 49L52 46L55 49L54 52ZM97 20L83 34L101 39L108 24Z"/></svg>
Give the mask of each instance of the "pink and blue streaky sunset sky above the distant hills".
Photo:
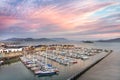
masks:
<svg viewBox="0 0 120 80"><path fill-rule="evenodd" d="M120 37L120 0L0 0L0 40Z"/></svg>

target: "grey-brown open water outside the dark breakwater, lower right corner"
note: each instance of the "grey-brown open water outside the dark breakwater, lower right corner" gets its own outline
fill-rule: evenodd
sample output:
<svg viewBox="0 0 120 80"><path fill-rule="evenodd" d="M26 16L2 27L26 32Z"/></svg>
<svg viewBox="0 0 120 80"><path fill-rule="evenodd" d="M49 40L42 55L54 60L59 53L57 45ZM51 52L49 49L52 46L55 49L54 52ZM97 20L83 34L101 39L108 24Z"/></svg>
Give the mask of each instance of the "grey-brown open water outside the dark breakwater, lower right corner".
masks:
<svg viewBox="0 0 120 80"><path fill-rule="evenodd" d="M120 80L120 50L115 51L77 80Z"/></svg>

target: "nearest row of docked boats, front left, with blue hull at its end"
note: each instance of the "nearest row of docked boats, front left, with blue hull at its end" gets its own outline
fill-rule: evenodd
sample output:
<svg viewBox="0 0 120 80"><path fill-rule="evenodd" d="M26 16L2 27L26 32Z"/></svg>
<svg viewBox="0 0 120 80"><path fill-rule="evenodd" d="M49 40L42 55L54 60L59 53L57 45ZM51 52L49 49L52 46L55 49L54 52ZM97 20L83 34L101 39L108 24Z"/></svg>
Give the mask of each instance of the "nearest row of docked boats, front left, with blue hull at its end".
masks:
<svg viewBox="0 0 120 80"><path fill-rule="evenodd" d="M41 62L35 57L22 56L20 57L20 60L35 75L46 76L57 74L59 72L59 70L56 67L53 67L52 64L47 64L47 61Z"/></svg>

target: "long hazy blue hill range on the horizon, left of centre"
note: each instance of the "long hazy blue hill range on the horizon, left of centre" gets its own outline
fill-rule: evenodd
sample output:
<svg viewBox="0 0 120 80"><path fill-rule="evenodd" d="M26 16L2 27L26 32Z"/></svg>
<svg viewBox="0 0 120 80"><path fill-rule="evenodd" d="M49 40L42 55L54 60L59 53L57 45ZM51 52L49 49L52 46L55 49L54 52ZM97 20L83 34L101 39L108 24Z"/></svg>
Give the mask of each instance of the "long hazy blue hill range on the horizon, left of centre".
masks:
<svg viewBox="0 0 120 80"><path fill-rule="evenodd" d="M50 41L56 41L56 42L65 42L65 41L69 41L65 38L39 38L39 39L33 39L33 38L9 38L6 39L4 41L17 41L17 42L21 42L21 41L46 41L46 42L50 42Z"/></svg>

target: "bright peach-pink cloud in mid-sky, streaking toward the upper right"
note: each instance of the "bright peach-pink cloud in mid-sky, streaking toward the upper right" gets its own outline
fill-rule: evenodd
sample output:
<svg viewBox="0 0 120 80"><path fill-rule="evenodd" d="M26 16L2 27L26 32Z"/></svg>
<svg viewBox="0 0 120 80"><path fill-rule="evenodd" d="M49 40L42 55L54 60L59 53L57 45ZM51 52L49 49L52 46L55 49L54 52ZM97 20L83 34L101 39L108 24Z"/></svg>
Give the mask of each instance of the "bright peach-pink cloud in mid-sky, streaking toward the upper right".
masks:
<svg viewBox="0 0 120 80"><path fill-rule="evenodd" d="M83 10L79 11L79 14L78 12L77 14L75 14L75 12L71 13L71 11L68 11L66 14L66 11L64 9L61 10L57 7L47 6L42 9L34 9L30 11L30 13L28 13L28 19L40 21L39 27L54 24L56 26L59 26L63 30L73 30L77 26L84 26L86 24L88 25L89 23L94 22L94 20L88 19L91 13L94 13L97 10L111 4L112 3L88 5L86 8L83 8ZM34 25L31 25L31 27L38 28Z"/></svg>

